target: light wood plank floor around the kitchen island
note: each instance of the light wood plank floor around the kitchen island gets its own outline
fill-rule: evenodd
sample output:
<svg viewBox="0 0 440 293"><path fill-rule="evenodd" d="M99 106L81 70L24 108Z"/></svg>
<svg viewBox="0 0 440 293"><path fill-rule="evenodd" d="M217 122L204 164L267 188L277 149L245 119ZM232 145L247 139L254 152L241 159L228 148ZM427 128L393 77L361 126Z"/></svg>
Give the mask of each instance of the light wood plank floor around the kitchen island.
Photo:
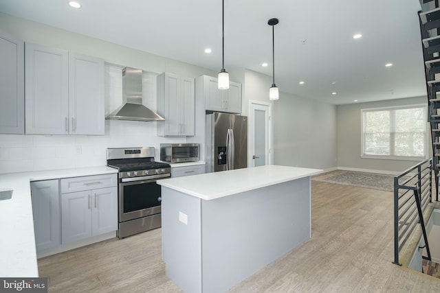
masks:
<svg viewBox="0 0 440 293"><path fill-rule="evenodd" d="M311 239L230 292L440 292L439 279L391 263L391 192L312 180L311 213ZM39 272L49 292L181 292L160 229L40 259Z"/></svg>

